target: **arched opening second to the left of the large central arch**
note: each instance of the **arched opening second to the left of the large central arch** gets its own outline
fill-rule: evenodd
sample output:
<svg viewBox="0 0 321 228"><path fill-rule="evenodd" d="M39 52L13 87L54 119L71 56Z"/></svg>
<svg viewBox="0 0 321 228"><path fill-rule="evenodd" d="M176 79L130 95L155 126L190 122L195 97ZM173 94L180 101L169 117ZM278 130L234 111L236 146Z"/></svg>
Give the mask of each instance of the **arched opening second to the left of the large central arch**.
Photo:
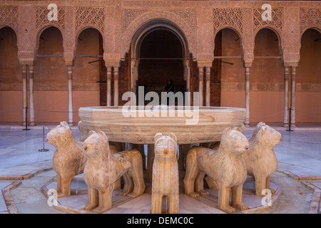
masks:
<svg viewBox="0 0 321 228"><path fill-rule="evenodd" d="M68 107L63 35L49 26L39 32L34 65L34 115L38 123L59 122Z"/></svg>

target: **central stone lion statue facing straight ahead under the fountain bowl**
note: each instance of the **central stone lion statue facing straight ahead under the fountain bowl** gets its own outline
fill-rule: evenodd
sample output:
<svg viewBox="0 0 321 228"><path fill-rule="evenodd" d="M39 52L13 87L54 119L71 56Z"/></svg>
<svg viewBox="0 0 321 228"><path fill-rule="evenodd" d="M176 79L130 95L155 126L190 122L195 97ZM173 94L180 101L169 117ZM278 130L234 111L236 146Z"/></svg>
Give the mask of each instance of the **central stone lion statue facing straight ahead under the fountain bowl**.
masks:
<svg viewBox="0 0 321 228"><path fill-rule="evenodd" d="M177 138L174 133L155 135L155 157L152 180L152 214L161 214L162 199L168 199L168 213L179 211Z"/></svg>

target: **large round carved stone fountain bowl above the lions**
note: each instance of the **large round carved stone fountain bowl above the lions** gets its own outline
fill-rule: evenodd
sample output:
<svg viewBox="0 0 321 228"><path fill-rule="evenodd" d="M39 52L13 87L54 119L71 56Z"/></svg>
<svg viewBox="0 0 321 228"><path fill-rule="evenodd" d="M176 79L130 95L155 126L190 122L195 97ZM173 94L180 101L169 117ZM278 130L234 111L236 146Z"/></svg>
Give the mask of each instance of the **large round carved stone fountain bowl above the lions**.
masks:
<svg viewBox="0 0 321 228"><path fill-rule="evenodd" d="M220 141L225 128L244 129L244 108L193 106L110 106L79 109L83 128L108 140L153 144L156 133L174 133L178 144Z"/></svg>

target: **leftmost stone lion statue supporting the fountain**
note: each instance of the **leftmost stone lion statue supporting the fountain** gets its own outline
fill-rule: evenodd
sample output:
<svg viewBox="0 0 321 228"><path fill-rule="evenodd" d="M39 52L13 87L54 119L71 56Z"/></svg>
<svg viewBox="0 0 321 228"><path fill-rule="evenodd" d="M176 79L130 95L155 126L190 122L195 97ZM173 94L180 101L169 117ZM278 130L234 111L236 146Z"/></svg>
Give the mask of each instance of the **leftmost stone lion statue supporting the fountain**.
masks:
<svg viewBox="0 0 321 228"><path fill-rule="evenodd" d="M57 173L58 197L71 195L71 180L83 173L86 156L81 142L76 140L68 123L63 121L47 134L47 142L56 147L52 166Z"/></svg>

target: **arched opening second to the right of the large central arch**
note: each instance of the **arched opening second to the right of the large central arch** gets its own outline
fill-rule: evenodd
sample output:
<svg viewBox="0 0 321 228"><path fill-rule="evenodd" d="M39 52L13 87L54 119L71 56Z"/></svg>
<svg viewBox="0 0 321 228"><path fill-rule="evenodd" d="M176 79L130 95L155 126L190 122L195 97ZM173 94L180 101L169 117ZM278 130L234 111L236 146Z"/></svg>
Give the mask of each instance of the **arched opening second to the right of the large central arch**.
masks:
<svg viewBox="0 0 321 228"><path fill-rule="evenodd" d="M255 36L254 61L250 69L250 122L282 123L284 70L280 36L262 28Z"/></svg>

